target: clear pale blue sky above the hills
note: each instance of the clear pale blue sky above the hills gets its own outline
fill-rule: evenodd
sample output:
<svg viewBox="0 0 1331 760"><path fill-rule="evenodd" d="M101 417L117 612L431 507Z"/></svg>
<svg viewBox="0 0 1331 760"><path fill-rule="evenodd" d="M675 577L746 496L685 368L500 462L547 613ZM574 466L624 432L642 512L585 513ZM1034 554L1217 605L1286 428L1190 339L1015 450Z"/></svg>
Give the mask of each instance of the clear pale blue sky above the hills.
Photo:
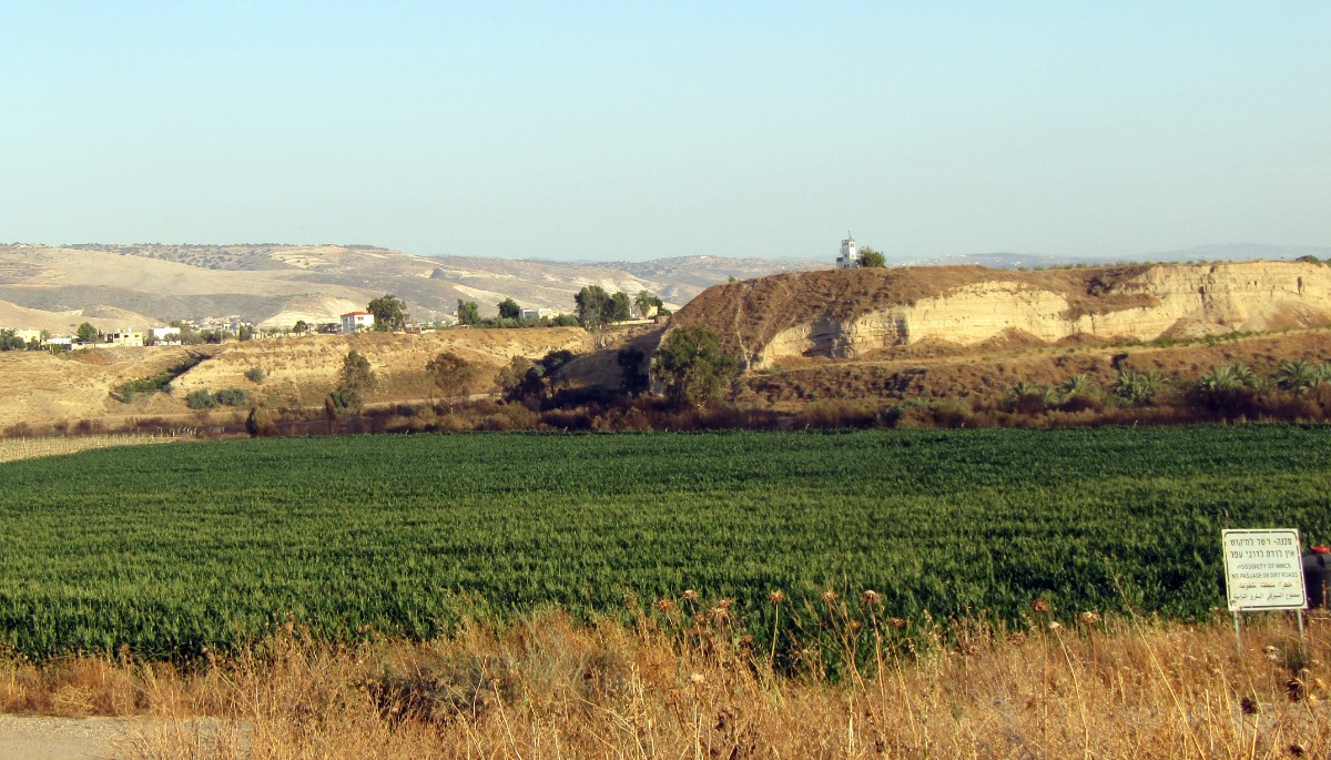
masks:
<svg viewBox="0 0 1331 760"><path fill-rule="evenodd" d="M0 5L0 241L1331 245L1331 3Z"/></svg>

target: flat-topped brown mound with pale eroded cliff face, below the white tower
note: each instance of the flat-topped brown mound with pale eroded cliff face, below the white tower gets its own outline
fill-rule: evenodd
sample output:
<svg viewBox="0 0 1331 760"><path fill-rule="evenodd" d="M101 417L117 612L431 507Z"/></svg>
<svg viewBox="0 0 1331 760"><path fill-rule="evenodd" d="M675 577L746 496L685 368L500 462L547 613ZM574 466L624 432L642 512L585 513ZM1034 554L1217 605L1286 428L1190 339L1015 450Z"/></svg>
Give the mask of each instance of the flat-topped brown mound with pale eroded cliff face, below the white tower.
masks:
<svg viewBox="0 0 1331 760"><path fill-rule="evenodd" d="M1006 272L978 266L777 274L715 286L677 325L707 325L760 369L783 357L852 358L932 339L1018 334L1201 337L1331 323L1331 268L1251 261Z"/></svg>

